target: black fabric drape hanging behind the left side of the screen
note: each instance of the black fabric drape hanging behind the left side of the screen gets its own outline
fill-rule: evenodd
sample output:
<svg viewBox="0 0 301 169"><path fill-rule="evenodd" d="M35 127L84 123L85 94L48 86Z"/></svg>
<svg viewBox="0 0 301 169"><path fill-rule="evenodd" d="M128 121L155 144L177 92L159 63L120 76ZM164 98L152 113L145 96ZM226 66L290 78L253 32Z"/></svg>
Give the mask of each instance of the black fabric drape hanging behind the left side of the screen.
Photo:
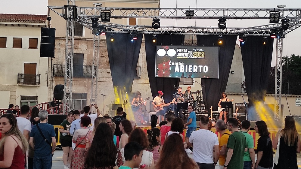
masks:
<svg viewBox="0 0 301 169"><path fill-rule="evenodd" d="M162 90L165 103L172 101L175 88L178 88L180 78L155 77L156 45L183 45L184 35L157 35L157 44L152 42L153 34L144 34L147 73L153 98ZM175 87L174 87L175 86Z"/></svg>

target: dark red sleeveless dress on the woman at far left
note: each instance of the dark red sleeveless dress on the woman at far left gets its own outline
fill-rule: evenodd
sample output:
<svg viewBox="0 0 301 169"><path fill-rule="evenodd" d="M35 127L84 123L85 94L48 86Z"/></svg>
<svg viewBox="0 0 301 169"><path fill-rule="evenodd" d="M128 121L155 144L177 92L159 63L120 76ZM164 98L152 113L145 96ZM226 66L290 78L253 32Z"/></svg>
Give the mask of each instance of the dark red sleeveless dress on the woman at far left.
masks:
<svg viewBox="0 0 301 169"><path fill-rule="evenodd" d="M13 137L13 139L14 139L14 137ZM0 155L0 161L3 161L3 160L4 160L4 155L2 154L2 155ZM23 150L21 149L21 147L18 144L18 146L15 148L15 151L14 151L14 157L13 157L11 166L8 167L8 169L24 169L24 166L25 166L25 153L23 153Z"/></svg>

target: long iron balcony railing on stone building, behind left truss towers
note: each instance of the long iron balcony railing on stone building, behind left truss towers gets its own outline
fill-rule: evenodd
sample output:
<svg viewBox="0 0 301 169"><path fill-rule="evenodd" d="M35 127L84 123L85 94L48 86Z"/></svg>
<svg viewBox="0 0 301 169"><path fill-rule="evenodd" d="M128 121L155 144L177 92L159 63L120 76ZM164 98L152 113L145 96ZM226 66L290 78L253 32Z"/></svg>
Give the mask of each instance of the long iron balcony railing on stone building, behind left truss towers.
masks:
<svg viewBox="0 0 301 169"><path fill-rule="evenodd" d="M65 76L65 65L53 65L53 76ZM73 68L73 77L92 77L92 66L83 65L82 69Z"/></svg>

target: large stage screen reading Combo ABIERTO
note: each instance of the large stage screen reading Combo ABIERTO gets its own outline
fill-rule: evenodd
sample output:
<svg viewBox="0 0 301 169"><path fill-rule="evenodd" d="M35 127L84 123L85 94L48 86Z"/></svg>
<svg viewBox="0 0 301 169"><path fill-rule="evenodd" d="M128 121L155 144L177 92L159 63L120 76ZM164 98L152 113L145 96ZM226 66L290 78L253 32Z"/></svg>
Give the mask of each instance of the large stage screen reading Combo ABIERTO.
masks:
<svg viewBox="0 0 301 169"><path fill-rule="evenodd" d="M155 77L219 78L218 46L156 45Z"/></svg>

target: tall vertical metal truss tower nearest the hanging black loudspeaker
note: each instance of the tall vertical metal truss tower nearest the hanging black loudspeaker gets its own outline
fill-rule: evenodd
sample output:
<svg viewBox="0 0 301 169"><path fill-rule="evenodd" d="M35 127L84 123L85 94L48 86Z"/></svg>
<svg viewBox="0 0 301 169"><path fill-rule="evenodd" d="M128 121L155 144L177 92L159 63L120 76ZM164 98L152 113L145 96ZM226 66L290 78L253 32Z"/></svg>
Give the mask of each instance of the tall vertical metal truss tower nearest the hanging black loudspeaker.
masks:
<svg viewBox="0 0 301 169"><path fill-rule="evenodd" d="M72 4L72 5L70 5ZM72 0L68 0L66 7L66 53L65 53L65 77L64 77L64 107L63 113L71 110L72 103L72 77L73 77L73 47L74 47L74 14L76 6Z"/></svg>

